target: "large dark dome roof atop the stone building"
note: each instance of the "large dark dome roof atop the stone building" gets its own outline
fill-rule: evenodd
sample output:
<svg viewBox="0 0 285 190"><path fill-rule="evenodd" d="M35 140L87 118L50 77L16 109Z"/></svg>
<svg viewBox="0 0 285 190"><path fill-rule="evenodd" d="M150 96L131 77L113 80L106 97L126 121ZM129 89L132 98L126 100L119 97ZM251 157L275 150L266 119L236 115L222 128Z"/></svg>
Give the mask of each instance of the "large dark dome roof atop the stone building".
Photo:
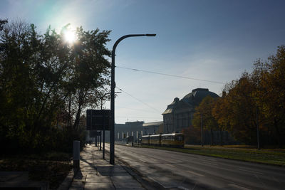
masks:
<svg viewBox="0 0 285 190"><path fill-rule="evenodd" d="M207 88L196 88L192 90L192 93L185 95L181 100L187 102L190 105L199 105L200 102L206 97L207 95L211 97L219 97L216 93L212 93Z"/></svg>

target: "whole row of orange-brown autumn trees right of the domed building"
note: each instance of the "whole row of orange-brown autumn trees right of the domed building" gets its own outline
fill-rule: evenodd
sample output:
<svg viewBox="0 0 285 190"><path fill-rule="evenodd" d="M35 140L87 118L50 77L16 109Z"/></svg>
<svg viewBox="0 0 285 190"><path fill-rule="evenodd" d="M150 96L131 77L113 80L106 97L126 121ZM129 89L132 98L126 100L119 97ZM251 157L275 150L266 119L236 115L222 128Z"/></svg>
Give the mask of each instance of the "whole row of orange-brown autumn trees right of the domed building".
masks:
<svg viewBox="0 0 285 190"><path fill-rule="evenodd" d="M240 143L282 147L285 142L285 46L268 60L257 60L252 73L244 72L224 86L222 97L205 97L192 120L198 129L227 131Z"/></svg>

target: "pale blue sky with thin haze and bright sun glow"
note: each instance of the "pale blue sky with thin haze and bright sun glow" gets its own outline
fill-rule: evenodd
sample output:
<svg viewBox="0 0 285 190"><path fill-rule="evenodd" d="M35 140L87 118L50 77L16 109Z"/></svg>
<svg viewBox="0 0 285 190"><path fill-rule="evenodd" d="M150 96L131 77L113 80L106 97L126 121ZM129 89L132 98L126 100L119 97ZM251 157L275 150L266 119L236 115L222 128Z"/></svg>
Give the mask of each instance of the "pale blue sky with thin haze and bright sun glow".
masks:
<svg viewBox="0 0 285 190"><path fill-rule="evenodd" d="M225 83L251 72L255 60L274 55L285 45L284 7L283 0L2 0L0 19L34 23L41 33L67 23L110 30L110 50L120 36L156 33L126 38L115 57L115 83L123 90L115 99L115 122L156 122L175 97L195 88L220 95Z"/></svg>

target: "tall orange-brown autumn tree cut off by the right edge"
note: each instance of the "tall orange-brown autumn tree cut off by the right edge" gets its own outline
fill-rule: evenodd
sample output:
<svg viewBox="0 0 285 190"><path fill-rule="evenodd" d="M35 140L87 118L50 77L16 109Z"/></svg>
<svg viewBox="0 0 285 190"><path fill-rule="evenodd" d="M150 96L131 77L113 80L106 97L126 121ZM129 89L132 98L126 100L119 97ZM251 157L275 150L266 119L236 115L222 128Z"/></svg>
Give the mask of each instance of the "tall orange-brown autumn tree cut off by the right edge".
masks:
<svg viewBox="0 0 285 190"><path fill-rule="evenodd" d="M266 62L257 60L254 64L254 76L259 78L257 103L266 126L273 131L279 147L284 144L285 134L285 46L279 46L276 55ZM271 126L271 127L270 127ZM271 129L270 129L271 128Z"/></svg>

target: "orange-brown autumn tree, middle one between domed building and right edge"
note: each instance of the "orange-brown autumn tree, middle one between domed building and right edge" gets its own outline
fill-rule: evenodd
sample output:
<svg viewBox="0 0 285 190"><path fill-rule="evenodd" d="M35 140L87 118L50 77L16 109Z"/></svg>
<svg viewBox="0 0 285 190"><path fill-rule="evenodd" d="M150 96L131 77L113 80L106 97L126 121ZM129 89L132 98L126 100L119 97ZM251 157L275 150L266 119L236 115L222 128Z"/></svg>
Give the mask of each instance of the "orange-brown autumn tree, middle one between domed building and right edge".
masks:
<svg viewBox="0 0 285 190"><path fill-rule="evenodd" d="M239 80L233 80L228 86L227 96L222 100L223 119L229 131L240 142L255 144L257 142L257 104L254 98L256 85L249 73L243 73Z"/></svg>

